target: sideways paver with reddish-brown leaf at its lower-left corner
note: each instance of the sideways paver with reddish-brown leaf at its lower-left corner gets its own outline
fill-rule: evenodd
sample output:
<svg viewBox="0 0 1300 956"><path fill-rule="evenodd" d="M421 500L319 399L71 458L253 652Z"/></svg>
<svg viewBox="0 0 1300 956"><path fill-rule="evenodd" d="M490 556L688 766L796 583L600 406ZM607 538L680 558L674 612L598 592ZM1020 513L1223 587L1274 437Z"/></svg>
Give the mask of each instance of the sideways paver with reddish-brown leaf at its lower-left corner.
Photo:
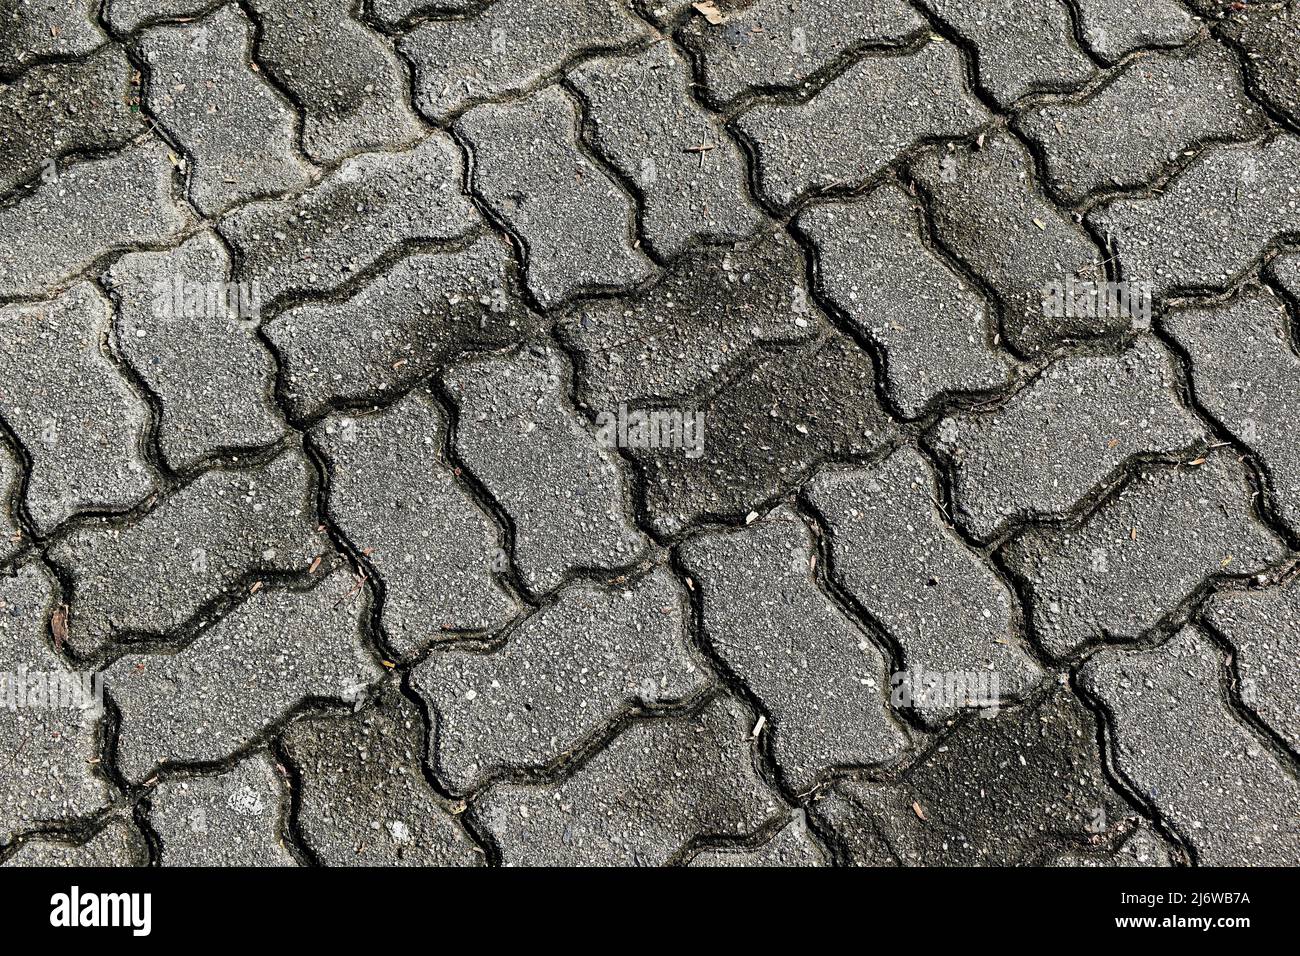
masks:
<svg viewBox="0 0 1300 956"><path fill-rule="evenodd" d="M257 571L306 572L330 550L316 475L298 451L250 471L209 471L139 522L78 528L51 545L74 583L69 644L162 635Z"/></svg>

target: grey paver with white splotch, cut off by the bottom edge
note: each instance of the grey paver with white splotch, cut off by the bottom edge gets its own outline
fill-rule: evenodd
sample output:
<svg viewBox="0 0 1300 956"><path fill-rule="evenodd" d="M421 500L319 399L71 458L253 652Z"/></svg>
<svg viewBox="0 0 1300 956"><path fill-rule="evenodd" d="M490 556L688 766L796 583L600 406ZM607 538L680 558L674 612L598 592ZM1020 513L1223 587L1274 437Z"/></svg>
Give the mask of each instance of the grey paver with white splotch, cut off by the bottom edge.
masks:
<svg viewBox="0 0 1300 956"><path fill-rule="evenodd" d="M265 750L230 770L174 777L150 793L162 866L295 866L281 831L289 784Z"/></svg>

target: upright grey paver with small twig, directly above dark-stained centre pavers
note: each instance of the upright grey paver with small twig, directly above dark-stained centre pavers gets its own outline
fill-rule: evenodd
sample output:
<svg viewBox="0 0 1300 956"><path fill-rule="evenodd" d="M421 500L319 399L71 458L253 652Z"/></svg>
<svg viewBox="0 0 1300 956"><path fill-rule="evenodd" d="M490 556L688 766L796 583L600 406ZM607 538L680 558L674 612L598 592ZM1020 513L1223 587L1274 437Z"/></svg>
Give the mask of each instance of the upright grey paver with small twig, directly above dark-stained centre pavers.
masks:
<svg viewBox="0 0 1300 956"><path fill-rule="evenodd" d="M662 258L694 239L742 239L763 222L745 159L690 98L688 64L667 40L644 53L578 66L595 147L637 185L641 228Z"/></svg>

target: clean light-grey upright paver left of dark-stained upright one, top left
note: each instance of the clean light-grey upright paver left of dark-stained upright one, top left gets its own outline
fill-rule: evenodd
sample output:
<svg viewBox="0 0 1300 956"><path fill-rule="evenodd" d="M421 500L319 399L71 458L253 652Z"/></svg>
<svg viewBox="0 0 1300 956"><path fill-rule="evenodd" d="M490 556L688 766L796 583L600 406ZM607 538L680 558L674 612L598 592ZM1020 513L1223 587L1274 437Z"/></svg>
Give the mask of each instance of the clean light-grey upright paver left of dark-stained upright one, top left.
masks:
<svg viewBox="0 0 1300 956"><path fill-rule="evenodd" d="M254 25L233 5L139 39L144 103L192 159L190 196L208 216L311 181L292 107L251 68L252 40Z"/></svg>

